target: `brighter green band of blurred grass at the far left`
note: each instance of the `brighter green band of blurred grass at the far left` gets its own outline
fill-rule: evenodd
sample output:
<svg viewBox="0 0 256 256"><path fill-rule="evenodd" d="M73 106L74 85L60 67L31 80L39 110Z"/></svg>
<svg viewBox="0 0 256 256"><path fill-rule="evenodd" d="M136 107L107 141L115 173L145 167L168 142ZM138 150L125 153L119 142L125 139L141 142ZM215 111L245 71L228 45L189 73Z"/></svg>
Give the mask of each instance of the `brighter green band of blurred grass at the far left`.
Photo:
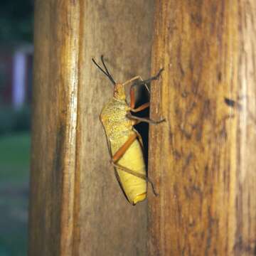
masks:
<svg viewBox="0 0 256 256"><path fill-rule="evenodd" d="M28 132L0 137L0 182L28 179L30 144Z"/></svg>

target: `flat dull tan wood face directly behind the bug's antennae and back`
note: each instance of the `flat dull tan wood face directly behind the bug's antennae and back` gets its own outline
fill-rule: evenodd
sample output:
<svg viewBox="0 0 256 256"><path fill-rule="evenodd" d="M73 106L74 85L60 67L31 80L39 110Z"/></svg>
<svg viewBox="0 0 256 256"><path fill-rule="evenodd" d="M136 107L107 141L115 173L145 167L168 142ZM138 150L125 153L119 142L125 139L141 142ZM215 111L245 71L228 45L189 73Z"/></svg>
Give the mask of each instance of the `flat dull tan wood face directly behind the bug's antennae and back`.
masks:
<svg viewBox="0 0 256 256"><path fill-rule="evenodd" d="M146 255L146 201L131 206L114 176L99 115L112 84L92 63L104 54L114 80L150 73L153 1L85 1L81 6L77 171L79 255ZM76 254L75 254L76 255Z"/></svg>

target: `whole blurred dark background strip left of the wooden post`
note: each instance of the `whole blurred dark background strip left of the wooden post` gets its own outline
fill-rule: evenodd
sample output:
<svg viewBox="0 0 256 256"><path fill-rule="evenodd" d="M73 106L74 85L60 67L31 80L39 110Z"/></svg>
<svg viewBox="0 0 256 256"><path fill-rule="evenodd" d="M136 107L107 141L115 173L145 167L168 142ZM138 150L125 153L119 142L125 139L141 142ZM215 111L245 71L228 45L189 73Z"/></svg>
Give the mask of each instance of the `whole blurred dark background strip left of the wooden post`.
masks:
<svg viewBox="0 0 256 256"><path fill-rule="evenodd" d="M0 7L0 256L27 255L33 1Z"/></svg>

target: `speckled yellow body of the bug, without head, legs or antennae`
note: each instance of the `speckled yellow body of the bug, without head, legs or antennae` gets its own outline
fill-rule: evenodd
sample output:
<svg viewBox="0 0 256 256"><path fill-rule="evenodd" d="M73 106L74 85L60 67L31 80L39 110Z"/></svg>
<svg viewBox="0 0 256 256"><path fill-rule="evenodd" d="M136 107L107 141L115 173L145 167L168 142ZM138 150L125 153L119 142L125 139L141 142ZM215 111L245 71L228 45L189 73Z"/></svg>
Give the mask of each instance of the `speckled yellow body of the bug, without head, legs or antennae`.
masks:
<svg viewBox="0 0 256 256"><path fill-rule="evenodd" d="M105 129L112 156L127 142L132 134L137 132L133 127L133 121L126 117L127 112L129 112L129 106L126 100L112 97L112 100L107 102L100 114L100 120ZM135 139L132 145L129 146L129 149L117 161L117 164L146 176L142 146L138 139ZM146 181L119 168L116 171L120 186L122 186L129 202L135 204L143 201L146 198Z"/></svg>

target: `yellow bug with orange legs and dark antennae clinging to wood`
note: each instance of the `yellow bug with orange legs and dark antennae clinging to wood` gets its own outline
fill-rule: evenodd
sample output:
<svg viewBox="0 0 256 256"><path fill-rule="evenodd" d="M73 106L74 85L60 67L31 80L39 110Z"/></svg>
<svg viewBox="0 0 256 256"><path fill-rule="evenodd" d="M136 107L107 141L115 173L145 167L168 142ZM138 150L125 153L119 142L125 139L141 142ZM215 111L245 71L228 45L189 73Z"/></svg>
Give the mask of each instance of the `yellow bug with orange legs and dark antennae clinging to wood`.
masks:
<svg viewBox="0 0 256 256"><path fill-rule="evenodd" d="M149 107L149 102L135 107L134 86L144 85L149 91L147 84L151 80L157 80L164 69L148 80L142 80L140 76L136 76L126 82L115 82L105 65L103 55L101 56L102 64L105 70L98 65L92 58L93 63L97 65L102 73L110 79L114 85L114 94L112 99L103 107L100 114L100 121L105 129L107 137L107 146L111 156L110 163L114 166L114 173L119 181L119 185L127 197L129 203L135 205L146 198L146 183L151 183L152 190L156 195L153 183L146 176L146 166L143 156L143 142L139 132L134 129L134 125L139 122L149 122L158 124L163 122L151 119L135 117L131 112L139 112ZM139 82L135 82L138 81ZM132 83L133 82L133 83ZM130 103L127 103L127 97L124 92L126 85L132 84L130 87Z"/></svg>

